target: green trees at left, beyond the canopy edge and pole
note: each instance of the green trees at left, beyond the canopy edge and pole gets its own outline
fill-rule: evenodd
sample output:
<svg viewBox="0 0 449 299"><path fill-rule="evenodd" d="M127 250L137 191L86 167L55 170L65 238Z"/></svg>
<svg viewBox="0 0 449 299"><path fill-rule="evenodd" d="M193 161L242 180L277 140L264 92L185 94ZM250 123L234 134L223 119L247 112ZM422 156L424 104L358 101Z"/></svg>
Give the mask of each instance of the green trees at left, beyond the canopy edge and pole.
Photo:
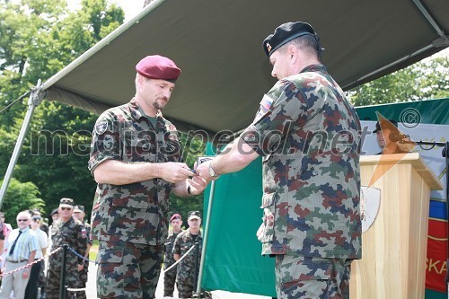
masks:
<svg viewBox="0 0 449 299"><path fill-rule="evenodd" d="M67 13L66 1L59 0L0 0L0 4L0 102L4 105L38 79L55 75L124 20L121 8L106 0L83 0L82 9L72 13ZM3 172L27 100L0 114ZM14 177L34 182L48 211L62 197L92 207L95 183L87 171L86 145L95 119L91 113L57 102L43 101L35 110Z"/></svg>

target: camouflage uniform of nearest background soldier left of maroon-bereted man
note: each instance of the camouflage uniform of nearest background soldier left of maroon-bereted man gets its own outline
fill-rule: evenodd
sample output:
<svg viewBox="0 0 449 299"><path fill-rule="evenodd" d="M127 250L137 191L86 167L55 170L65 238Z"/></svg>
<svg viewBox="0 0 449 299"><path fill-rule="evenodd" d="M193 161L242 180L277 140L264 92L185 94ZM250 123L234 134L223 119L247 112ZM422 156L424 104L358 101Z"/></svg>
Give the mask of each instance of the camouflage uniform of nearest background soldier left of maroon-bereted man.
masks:
<svg viewBox="0 0 449 299"><path fill-rule="evenodd" d="M67 244L74 251L83 254L87 247L87 237L84 225L73 218L67 222L62 219L57 220L51 226L52 246L50 251ZM47 274L47 299L59 299L59 285L61 281L61 265L63 251L57 251L48 259ZM78 286L78 264L82 264L83 259L78 258L72 251L67 251L66 255L66 286L76 288ZM76 298L74 292L66 292L66 298Z"/></svg>

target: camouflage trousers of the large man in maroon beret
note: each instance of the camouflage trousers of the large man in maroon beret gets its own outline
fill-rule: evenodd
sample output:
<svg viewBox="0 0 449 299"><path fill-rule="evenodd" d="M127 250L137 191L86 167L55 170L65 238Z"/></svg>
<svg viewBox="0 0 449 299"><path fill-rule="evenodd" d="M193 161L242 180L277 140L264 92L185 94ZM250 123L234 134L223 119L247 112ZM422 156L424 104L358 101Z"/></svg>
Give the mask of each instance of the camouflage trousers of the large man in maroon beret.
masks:
<svg viewBox="0 0 449 299"><path fill-rule="evenodd" d="M161 246L100 241L97 296L154 298L162 261Z"/></svg>

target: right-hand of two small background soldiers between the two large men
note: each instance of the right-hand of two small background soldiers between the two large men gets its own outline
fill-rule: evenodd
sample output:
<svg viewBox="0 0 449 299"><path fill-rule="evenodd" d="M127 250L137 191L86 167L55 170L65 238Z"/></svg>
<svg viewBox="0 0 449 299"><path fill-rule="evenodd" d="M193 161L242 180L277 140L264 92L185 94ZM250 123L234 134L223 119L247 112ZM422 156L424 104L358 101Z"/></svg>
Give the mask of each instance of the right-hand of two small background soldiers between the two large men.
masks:
<svg viewBox="0 0 449 299"><path fill-rule="evenodd" d="M199 212L189 212L187 223L189 228L176 237L173 245L173 258L174 260L180 259L198 242L198 260L196 260L196 250L193 249L178 264L176 287L178 288L180 298L191 298L193 291L197 287L195 286L195 280L196 278L198 279L199 261L201 260L201 250L203 248L203 235L199 231L199 226L201 225ZM197 269L195 269L195 265L197 265Z"/></svg>

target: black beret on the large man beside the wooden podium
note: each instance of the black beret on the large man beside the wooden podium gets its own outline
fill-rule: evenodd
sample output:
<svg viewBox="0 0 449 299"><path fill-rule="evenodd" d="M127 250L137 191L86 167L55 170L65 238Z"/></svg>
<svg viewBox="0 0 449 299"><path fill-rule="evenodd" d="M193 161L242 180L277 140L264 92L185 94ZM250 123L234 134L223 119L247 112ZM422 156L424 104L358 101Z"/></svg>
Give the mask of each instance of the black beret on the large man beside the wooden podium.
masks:
<svg viewBox="0 0 449 299"><path fill-rule="evenodd" d="M270 57L277 48L290 40L295 40L306 34L313 35L318 43L318 37L310 24L306 22L286 22L277 27L273 34L270 34L263 40L263 50L265 51L265 54Z"/></svg>

